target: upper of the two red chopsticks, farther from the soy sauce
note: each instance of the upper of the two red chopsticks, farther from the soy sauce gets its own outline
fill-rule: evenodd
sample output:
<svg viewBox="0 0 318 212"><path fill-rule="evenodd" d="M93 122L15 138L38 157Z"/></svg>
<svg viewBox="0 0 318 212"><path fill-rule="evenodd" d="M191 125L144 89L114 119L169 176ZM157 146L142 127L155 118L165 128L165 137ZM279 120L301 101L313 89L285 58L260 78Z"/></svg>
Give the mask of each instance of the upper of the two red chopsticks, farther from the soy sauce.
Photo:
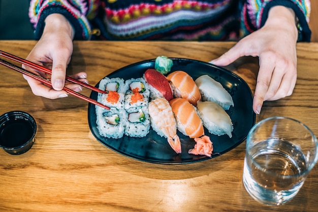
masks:
<svg viewBox="0 0 318 212"><path fill-rule="evenodd" d="M27 65L27 66L30 66L30 67L32 67L34 69L41 70L42 72L45 72L47 74L52 74L52 70L51 69L49 69L47 67L44 67L42 65L39 65L37 63L31 62L29 60L23 59L21 57L15 56L13 54L10 54L10 53L7 53L7 52L4 52L4 51L0 50L0 56L4 56L4 57L6 57L8 59L11 59L11 60L14 60L16 62L20 62L20 63L22 63L24 65ZM88 85L86 83L78 81L78 80L76 80L74 78L71 78L69 76L66 76L66 80L69 81L69 82L75 83L75 84L79 84L79 85L81 85L81 86L83 86L85 88L88 88L90 90L93 90L93 91L96 91L96 92L99 92L99 93L107 93L107 91L100 90L97 87L93 87L91 85Z"/></svg>

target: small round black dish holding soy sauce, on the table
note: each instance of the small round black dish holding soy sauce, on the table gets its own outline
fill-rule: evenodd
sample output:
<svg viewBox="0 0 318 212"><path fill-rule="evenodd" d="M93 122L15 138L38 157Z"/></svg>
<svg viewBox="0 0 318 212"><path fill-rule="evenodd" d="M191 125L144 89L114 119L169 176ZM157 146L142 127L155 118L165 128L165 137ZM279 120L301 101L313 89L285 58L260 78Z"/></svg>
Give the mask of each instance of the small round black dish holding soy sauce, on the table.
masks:
<svg viewBox="0 0 318 212"><path fill-rule="evenodd" d="M23 111L10 111L0 116L0 148L12 155L27 152L37 132L35 119Z"/></svg>

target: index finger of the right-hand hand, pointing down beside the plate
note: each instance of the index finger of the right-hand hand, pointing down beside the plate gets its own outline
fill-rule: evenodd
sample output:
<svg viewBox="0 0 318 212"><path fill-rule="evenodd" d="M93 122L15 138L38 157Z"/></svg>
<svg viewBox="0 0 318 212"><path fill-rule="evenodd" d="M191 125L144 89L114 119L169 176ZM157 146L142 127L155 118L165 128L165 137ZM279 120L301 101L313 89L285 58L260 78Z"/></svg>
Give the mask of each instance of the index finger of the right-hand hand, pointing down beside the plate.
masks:
<svg viewBox="0 0 318 212"><path fill-rule="evenodd" d="M273 69L274 63L260 59L260 69L253 98L253 111L256 114L261 113L264 98L271 82Z"/></svg>

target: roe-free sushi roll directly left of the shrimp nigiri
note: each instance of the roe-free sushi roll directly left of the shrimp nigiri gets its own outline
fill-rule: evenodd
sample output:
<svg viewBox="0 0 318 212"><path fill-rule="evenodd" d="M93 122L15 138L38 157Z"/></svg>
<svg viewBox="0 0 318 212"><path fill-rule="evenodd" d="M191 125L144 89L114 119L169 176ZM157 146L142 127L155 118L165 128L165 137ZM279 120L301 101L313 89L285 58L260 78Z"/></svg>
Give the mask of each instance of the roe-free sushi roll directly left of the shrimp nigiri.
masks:
<svg viewBox="0 0 318 212"><path fill-rule="evenodd" d="M150 129L149 113L146 107L130 108L128 111L125 135L131 137L144 137Z"/></svg>

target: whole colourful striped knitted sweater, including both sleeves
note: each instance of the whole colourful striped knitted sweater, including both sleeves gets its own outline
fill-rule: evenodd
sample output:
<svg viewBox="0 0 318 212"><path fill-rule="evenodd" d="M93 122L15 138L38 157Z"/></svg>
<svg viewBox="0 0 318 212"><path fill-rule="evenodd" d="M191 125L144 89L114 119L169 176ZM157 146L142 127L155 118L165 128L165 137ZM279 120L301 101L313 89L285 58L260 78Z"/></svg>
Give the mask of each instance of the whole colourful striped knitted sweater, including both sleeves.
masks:
<svg viewBox="0 0 318 212"><path fill-rule="evenodd" d="M29 17L35 39L45 18L60 13L76 40L236 41L261 28L277 5L295 11L298 40L310 41L309 0L31 0Z"/></svg>

